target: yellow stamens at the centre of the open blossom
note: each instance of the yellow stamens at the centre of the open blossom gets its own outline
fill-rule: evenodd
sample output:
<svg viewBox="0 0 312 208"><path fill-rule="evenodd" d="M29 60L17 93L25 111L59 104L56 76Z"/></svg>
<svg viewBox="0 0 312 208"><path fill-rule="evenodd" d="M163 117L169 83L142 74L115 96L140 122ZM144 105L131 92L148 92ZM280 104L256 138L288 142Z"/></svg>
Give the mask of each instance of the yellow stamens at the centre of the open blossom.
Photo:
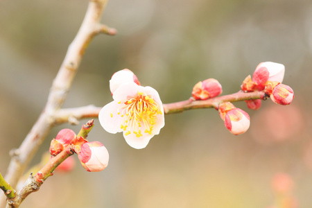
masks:
<svg viewBox="0 0 312 208"><path fill-rule="evenodd" d="M153 127L157 122L157 114L162 114L159 105L155 102L152 96L144 92L138 92L136 97L128 98L126 101L119 101L124 103L123 107L119 108L118 114L123 117L121 129L127 131L125 135L134 133L137 137L142 137L141 130L149 135L152 134Z"/></svg>

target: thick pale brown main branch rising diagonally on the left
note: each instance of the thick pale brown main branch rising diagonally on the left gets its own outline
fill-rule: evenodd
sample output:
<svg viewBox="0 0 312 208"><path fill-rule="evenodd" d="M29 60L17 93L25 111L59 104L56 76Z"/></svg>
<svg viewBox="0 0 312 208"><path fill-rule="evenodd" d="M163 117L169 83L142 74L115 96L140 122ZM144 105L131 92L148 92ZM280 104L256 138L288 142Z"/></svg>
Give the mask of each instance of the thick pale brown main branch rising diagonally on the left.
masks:
<svg viewBox="0 0 312 208"><path fill-rule="evenodd" d="M26 166L40 147L40 144L42 144L46 135L55 124L53 115L60 110L60 107L67 97L67 93L76 75L85 49L87 49L87 45L94 35L104 33L105 30L99 29L98 25L107 1L108 0L91 0L89 2L85 19L73 42L69 45L60 70L53 81L51 92L42 114L40 114L39 119L36 121L35 125L33 125L33 128L28 133L21 146L12 152L12 159L6 174L6 181L10 183L12 187L16 186L19 177L21 177ZM107 29L107 31L114 33L113 29ZM4 197L0 196L0 207L3 207L3 204Z"/></svg>

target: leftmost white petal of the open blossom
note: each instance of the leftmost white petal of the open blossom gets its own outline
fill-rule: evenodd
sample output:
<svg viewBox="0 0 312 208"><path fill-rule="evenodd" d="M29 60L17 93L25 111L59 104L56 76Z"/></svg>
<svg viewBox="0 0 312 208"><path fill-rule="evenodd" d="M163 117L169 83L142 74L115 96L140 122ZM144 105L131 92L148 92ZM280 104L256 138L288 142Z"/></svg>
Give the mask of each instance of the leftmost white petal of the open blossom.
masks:
<svg viewBox="0 0 312 208"><path fill-rule="evenodd" d="M98 114L98 120L107 132L112 134L116 134L116 132L122 132L120 126L123 122L123 118L117 114L117 110L123 105L123 103L119 104L116 101L112 101L105 105Z"/></svg>

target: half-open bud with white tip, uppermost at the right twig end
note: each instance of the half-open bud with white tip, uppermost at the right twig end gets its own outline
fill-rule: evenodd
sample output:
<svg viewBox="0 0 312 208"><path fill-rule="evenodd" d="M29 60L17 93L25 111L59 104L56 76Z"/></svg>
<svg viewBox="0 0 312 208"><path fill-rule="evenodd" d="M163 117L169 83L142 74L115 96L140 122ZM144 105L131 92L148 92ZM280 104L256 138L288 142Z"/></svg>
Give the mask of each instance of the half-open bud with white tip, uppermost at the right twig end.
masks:
<svg viewBox="0 0 312 208"><path fill-rule="evenodd" d="M252 76L252 81L257 83L258 90L264 89L267 81L281 83L284 79L285 67L275 62L261 62Z"/></svg>

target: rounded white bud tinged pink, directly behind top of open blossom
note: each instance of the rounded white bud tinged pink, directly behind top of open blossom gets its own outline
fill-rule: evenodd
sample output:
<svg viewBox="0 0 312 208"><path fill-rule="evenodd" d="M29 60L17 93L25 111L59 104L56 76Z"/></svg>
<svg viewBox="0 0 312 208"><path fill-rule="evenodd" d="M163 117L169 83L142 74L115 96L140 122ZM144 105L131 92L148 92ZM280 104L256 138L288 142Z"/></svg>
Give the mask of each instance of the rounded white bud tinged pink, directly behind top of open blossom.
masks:
<svg viewBox="0 0 312 208"><path fill-rule="evenodd" d="M140 85L137 76L135 76L135 73L129 69L123 69L114 73L110 79L110 92L114 94L116 89L125 83L136 83L137 85Z"/></svg>

